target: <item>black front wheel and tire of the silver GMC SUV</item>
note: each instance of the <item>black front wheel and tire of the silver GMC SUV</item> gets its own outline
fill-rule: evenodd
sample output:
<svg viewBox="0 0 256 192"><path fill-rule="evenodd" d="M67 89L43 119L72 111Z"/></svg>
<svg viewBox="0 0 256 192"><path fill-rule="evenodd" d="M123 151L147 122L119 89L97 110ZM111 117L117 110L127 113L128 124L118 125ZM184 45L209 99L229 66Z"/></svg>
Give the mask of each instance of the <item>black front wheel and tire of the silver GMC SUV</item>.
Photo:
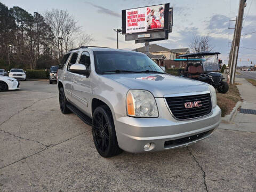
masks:
<svg viewBox="0 0 256 192"><path fill-rule="evenodd" d="M122 153L116 139L115 125L108 106L99 106L93 112L92 136L94 145L102 157L113 157Z"/></svg>

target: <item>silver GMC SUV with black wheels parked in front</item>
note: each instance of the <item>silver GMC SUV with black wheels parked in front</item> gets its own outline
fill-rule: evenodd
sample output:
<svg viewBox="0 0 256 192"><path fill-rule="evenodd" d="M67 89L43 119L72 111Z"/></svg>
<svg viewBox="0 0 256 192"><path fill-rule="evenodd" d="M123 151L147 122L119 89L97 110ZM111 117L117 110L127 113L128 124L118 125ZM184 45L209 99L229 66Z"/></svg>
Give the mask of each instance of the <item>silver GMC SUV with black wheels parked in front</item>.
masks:
<svg viewBox="0 0 256 192"><path fill-rule="evenodd" d="M186 147L221 121L212 85L166 74L143 53L82 46L57 78L61 112L92 125L103 157Z"/></svg>

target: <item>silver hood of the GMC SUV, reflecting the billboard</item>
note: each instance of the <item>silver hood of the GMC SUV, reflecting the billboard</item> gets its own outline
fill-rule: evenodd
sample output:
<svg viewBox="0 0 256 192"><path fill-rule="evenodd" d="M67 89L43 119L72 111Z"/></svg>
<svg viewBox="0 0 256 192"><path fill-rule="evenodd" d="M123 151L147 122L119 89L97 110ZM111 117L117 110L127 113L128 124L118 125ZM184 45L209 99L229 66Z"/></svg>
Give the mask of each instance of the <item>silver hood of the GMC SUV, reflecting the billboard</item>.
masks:
<svg viewBox="0 0 256 192"><path fill-rule="evenodd" d="M169 74L111 74L104 75L130 89L143 89L153 93L154 97L167 94L209 91L206 83Z"/></svg>

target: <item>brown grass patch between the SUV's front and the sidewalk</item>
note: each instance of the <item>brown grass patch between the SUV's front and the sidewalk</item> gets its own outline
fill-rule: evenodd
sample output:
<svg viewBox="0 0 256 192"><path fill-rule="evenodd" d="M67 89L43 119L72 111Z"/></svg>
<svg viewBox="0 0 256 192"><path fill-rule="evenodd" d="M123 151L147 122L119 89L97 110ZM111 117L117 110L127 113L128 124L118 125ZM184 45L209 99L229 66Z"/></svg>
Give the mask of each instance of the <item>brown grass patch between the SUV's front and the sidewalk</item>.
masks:
<svg viewBox="0 0 256 192"><path fill-rule="evenodd" d="M221 116L229 114L238 101L242 101L236 84L229 84L229 90L225 94L217 93L217 105L221 108Z"/></svg>

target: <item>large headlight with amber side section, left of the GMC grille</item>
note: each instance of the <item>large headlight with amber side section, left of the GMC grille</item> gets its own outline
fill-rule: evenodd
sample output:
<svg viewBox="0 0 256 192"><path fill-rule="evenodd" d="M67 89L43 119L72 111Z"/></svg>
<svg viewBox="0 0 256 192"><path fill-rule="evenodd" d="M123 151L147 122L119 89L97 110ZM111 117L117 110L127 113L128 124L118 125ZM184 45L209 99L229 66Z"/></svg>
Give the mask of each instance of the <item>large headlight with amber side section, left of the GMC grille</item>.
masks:
<svg viewBox="0 0 256 192"><path fill-rule="evenodd" d="M153 94L145 90L129 90L126 95L127 115L133 117L158 117Z"/></svg>

